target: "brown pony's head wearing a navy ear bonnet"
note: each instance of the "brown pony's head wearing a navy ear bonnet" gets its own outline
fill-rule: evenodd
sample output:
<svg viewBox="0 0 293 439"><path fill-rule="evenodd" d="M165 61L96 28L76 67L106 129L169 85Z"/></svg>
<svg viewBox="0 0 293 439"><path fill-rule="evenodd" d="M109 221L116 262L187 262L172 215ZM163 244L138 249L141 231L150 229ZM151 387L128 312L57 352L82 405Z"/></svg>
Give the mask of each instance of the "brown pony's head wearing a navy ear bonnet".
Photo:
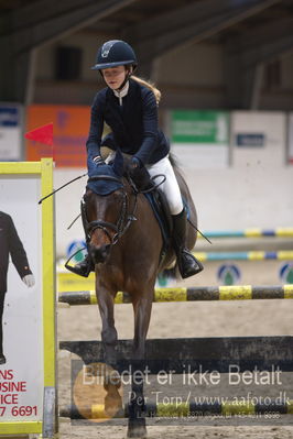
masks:
<svg viewBox="0 0 293 439"><path fill-rule="evenodd" d="M105 263L127 222L128 194L122 182L123 157L96 166L84 197L88 250L95 264Z"/></svg>

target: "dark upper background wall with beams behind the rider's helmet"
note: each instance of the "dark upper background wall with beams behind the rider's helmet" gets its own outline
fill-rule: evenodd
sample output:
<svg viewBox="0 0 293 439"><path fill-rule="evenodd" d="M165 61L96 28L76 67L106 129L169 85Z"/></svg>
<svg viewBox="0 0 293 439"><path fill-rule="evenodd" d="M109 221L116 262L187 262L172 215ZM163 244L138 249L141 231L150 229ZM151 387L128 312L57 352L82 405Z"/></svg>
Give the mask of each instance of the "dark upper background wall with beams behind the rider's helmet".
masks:
<svg viewBox="0 0 293 439"><path fill-rule="evenodd" d="M0 2L0 100L90 103L99 44L124 39L163 106L293 106L293 0Z"/></svg>

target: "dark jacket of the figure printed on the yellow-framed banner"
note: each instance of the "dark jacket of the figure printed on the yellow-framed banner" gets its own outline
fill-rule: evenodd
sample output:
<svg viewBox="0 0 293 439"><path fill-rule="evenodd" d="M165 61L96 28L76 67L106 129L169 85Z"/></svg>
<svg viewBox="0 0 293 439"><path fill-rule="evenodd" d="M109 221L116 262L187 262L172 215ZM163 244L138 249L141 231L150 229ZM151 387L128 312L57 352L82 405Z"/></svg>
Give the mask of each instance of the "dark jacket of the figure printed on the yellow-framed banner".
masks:
<svg viewBox="0 0 293 439"><path fill-rule="evenodd" d="M32 274L12 218L0 211L0 294L7 292L9 255L21 278Z"/></svg>

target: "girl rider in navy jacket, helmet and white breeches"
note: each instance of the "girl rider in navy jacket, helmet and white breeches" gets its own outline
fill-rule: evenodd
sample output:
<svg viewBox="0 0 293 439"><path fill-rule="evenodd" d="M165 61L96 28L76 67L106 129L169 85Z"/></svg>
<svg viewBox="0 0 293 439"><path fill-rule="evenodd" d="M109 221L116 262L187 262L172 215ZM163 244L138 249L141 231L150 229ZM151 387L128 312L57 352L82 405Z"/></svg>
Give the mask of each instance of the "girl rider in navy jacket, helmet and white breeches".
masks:
<svg viewBox="0 0 293 439"><path fill-rule="evenodd" d="M158 103L160 91L151 84L133 76L137 57L132 47L120 40L108 41L98 50L94 70L100 74L107 85L99 91L91 106L90 130L87 140L87 164L93 171L104 164L100 155L104 121L111 129L108 141L119 145L123 153L130 154L128 172L138 172L151 176L164 174L166 179L161 185L169 201L173 219L173 244L178 268L183 278L199 273L203 265L185 246L186 211L183 206L180 187L169 160L170 144L164 133L158 128ZM115 145L111 144L112 147ZM89 256L72 271L88 276L93 268Z"/></svg>

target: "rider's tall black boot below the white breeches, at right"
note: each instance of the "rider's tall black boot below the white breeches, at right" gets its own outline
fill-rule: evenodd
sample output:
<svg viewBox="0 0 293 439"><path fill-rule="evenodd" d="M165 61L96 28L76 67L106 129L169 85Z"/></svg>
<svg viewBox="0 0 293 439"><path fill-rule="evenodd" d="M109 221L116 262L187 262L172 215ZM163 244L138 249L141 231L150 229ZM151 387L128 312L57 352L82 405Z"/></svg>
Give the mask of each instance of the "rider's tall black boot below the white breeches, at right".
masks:
<svg viewBox="0 0 293 439"><path fill-rule="evenodd" d="M193 276L204 270L203 264L185 246L186 238L186 212L185 209L178 215L172 215L173 218L173 241L174 250L177 256L177 264L183 278Z"/></svg>

